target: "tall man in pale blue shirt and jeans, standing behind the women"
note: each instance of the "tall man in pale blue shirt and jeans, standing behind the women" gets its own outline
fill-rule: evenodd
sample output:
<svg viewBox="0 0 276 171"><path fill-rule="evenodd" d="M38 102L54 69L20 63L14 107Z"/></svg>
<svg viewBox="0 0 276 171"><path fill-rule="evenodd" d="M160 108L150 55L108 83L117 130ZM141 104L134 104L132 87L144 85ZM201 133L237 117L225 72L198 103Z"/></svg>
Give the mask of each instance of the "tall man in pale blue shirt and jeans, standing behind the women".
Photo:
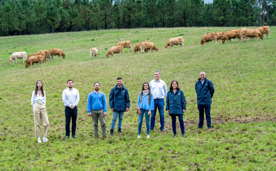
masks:
<svg viewBox="0 0 276 171"><path fill-rule="evenodd" d="M164 98L167 96L167 85L166 83L160 79L160 71L155 71L154 76L155 79L151 80L149 86L151 89L151 93L153 94L154 99L154 110L151 111L151 126L150 129L154 130L155 127L155 115L158 107L159 115L160 115L160 130L164 132Z"/></svg>

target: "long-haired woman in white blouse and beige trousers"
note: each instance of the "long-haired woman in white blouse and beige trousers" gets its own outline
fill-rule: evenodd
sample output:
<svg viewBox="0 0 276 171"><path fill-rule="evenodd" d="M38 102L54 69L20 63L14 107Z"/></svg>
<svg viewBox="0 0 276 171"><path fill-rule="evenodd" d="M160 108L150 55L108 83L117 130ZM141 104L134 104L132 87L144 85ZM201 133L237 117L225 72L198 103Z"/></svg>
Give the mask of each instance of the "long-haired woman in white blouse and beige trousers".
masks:
<svg viewBox="0 0 276 171"><path fill-rule="evenodd" d="M44 125L44 132L43 132L43 142L48 142L49 139L46 138L48 134L49 128L49 121L48 115L46 112L46 95L45 91L43 90L43 84L40 80L36 82L36 89L33 91L32 94L32 106L33 106L33 118L35 124L35 135L38 137L38 143L41 143L40 139L40 119Z"/></svg>

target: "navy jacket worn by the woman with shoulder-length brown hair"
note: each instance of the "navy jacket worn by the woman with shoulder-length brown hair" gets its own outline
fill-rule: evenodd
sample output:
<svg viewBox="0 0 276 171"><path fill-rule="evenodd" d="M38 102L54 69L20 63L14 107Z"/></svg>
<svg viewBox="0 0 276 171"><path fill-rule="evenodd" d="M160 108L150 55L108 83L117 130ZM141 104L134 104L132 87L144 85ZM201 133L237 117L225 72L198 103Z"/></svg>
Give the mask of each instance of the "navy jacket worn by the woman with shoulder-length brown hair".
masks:
<svg viewBox="0 0 276 171"><path fill-rule="evenodd" d="M169 110L169 115L183 115L183 109L186 110L186 99L183 91L179 88L174 92L170 88L170 91L167 93L166 100L166 111Z"/></svg>

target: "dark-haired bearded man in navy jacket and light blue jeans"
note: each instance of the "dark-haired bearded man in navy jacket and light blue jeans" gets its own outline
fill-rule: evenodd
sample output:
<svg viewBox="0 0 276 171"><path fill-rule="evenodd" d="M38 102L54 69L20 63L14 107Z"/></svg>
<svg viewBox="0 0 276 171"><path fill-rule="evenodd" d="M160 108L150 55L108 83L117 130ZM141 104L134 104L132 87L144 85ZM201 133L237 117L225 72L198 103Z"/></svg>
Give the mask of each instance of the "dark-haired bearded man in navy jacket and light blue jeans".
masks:
<svg viewBox="0 0 276 171"><path fill-rule="evenodd" d="M118 133L121 133L121 126L123 122L124 112L128 111L130 100L128 96L128 89L122 84L122 78L117 78L117 85L112 88L109 94L109 106L113 111L113 119L110 127L110 135L113 135L115 124L118 119Z"/></svg>

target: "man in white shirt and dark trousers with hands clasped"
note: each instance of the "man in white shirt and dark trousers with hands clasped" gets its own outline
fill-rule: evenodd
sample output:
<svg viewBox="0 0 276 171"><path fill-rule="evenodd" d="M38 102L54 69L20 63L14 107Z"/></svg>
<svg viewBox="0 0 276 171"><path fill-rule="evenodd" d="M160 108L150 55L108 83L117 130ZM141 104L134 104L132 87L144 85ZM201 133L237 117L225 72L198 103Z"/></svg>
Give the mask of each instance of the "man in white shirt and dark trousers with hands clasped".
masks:
<svg viewBox="0 0 276 171"><path fill-rule="evenodd" d="M76 136L76 121L78 116L77 105L79 103L79 91L76 88L73 88L73 81L68 80L68 88L63 90L62 100L65 106L65 135L66 139L69 139L70 136L70 120L72 118L72 138L77 138Z"/></svg>

